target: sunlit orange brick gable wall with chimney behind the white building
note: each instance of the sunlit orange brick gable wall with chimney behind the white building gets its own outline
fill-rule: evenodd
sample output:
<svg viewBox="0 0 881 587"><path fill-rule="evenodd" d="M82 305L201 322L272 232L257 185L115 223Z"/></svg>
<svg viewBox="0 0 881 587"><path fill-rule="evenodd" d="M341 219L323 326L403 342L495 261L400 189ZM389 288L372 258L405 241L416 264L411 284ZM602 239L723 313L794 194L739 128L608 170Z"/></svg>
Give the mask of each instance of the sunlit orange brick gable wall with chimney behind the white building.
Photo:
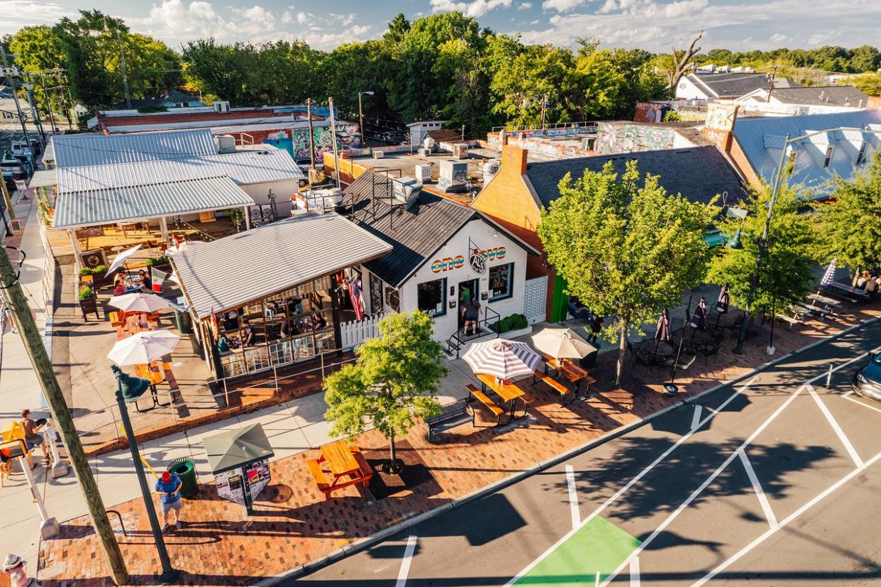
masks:
<svg viewBox="0 0 881 587"><path fill-rule="evenodd" d="M505 145L501 151L499 173L492 178L478 197L471 203L473 208L484 212L512 234L544 251L542 241L536 234L541 215L526 180L526 157L528 151L514 145ZM527 256L526 279L548 276L548 299L546 316L551 316L554 272L544 266L544 256Z"/></svg>

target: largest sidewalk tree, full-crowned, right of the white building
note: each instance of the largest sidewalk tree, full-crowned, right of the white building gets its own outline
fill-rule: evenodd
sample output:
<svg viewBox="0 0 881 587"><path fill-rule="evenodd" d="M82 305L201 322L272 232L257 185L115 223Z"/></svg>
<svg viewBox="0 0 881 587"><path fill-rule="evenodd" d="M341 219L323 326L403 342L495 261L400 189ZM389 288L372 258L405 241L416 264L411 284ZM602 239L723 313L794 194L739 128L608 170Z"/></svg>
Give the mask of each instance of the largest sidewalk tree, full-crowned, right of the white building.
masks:
<svg viewBox="0 0 881 587"><path fill-rule="evenodd" d="M566 175L559 193L542 211L538 235L567 293L614 316L603 338L618 338L618 385L628 331L677 306L704 278L711 256L704 236L718 209L671 196L635 161L620 177L611 161L575 181Z"/></svg>

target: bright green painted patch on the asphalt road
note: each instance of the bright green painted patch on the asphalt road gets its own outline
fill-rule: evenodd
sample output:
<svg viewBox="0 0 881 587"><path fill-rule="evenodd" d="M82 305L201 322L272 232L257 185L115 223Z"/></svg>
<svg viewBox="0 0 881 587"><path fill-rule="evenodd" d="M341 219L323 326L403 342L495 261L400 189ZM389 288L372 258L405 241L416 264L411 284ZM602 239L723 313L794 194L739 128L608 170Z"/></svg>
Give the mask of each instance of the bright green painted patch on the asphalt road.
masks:
<svg viewBox="0 0 881 587"><path fill-rule="evenodd" d="M593 585L600 582L626 560L640 541L615 524L596 516L557 546L515 585Z"/></svg>

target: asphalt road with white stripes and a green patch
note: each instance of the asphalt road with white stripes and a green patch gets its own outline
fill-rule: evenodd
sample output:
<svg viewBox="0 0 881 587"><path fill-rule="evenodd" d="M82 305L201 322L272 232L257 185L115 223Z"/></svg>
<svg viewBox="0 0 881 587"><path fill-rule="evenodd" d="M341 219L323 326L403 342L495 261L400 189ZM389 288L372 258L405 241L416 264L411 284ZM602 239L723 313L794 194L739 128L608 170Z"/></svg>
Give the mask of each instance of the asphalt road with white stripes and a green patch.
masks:
<svg viewBox="0 0 881 587"><path fill-rule="evenodd" d="M881 584L881 404L848 394L878 346L864 326L291 584Z"/></svg>

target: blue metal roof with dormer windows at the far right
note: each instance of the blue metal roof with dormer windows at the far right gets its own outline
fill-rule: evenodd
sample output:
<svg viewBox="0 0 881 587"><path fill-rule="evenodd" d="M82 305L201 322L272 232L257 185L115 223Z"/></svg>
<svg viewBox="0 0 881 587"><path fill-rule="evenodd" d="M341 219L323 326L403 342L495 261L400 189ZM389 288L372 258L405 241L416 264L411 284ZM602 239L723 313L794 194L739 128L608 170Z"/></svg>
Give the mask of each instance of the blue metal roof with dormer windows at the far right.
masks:
<svg viewBox="0 0 881 587"><path fill-rule="evenodd" d="M859 110L828 115L766 116L744 118L734 124L734 137L750 161L756 175L765 182L774 181L780 165L781 150L787 135L801 137L824 129L852 128L874 130L872 132L830 132L805 138L792 144L796 154L790 184L803 183L818 189L820 195L833 175L848 178L855 169L863 141L868 143L865 160L871 160L872 152L881 145L881 110ZM825 165L826 153L832 147L832 157Z"/></svg>

